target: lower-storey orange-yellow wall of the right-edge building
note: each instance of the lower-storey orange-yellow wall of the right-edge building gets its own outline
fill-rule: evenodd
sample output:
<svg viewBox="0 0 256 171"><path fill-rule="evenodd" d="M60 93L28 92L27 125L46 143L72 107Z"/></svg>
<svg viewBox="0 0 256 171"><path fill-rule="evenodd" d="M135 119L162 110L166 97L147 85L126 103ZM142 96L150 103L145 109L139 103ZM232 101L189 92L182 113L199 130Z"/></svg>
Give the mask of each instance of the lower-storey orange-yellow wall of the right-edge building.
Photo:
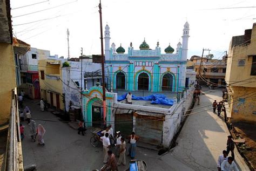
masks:
<svg viewBox="0 0 256 171"><path fill-rule="evenodd" d="M256 88L231 86L230 90L230 108L231 121L237 122L256 121Z"/></svg>

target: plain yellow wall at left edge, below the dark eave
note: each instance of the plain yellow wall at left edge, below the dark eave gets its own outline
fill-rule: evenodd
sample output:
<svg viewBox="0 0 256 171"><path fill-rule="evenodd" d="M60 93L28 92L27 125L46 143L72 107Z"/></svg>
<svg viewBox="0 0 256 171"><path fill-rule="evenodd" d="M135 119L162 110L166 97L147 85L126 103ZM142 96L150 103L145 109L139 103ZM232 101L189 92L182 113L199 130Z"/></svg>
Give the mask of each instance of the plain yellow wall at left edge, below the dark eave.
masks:
<svg viewBox="0 0 256 171"><path fill-rule="evenodd" d="M14 50L11 44L0 43L0 125L8 122L12 89L16 87Z"/></svg>

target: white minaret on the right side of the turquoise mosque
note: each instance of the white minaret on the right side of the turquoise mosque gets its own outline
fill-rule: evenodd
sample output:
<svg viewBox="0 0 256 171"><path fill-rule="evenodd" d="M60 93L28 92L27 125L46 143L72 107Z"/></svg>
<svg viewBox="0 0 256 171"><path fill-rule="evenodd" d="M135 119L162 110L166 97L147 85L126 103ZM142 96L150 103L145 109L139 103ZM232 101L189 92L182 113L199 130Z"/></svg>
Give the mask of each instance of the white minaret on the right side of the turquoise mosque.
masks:
<svg viewBox="0 0 256 171"><path fill-rule="evenodd" d="M190 24L187 22L184 24L183 36L182 36L182 56L181 60L187 60L187 50L188 50L188 38L190 33Z"/></svg>

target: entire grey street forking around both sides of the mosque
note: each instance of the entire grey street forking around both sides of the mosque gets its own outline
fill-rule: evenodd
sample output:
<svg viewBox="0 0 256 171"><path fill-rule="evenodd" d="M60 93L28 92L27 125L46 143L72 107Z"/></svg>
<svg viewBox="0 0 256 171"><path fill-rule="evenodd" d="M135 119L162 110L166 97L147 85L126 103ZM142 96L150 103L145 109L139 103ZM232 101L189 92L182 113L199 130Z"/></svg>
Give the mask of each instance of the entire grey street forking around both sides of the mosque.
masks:
<svg viewBox="0 0 256 171"><path fill-rule="evenodd" d="M205 93L201 95L201 104L196 105L192 113L209 108L203 106L210 105L214 99L220 100L220 90ZM35 164L38 170L92 170L103 166L102 147L91 146L89 130L85 136L78 135L75 129L52 113L39 111L37 100L26 100L25 105L30 107L32 117L45 127L46 133L45 146L38 146L30 140L29 127L23 122L24 166ZM212 111L205 111L187 118L177 139L178 145L169 153L159 156L157 151L138 147L136 158L145 160L148 170L216 170L218 155L226 147L228 134L224 121ZM237 151L235 155L241 170L247 170ZM128 168L129 159L126 157L126 166L120 166L120 170Z"/></svg>

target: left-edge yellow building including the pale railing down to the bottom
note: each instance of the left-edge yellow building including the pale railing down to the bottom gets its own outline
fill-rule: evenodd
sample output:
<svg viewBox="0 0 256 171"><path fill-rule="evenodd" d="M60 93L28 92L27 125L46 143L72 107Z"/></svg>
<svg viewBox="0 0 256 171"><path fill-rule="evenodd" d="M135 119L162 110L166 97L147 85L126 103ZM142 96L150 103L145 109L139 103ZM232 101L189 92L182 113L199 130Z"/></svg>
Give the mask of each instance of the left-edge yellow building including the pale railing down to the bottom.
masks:
<svg viewBox="0 0 256 171"><path fill-rule="evenodd" d="M10 1L0 1L0 166L1 170L23 170Z"/></svg>

